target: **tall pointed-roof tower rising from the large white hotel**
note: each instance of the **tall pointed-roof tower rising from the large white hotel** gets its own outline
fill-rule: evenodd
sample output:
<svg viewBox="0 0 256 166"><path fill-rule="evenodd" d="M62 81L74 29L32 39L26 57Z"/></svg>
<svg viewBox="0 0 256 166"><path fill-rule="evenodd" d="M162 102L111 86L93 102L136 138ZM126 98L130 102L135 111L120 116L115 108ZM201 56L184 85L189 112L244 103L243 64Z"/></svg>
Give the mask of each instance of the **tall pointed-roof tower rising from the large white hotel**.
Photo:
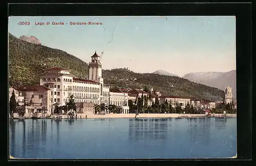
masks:
<svg viewBox="0 0 256 166"><path fill-rule="evenodd" d="M99 82L103 84L102 78L102 63L100 56L97 55L96 51L93 56L91 56L91 62L88 65L89 68L89 80Z"/></svg>

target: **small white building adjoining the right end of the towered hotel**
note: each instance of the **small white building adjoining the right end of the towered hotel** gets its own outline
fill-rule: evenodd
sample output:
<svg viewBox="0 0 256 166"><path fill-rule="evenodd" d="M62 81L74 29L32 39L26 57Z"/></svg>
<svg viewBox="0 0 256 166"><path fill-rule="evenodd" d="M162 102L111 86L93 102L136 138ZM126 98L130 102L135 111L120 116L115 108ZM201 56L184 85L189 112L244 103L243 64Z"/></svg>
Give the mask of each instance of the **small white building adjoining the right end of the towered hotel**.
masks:
<svg viewBox="0 0 256 166"><path fill-rule="evenodd" d="M118 90L110 90L110 105L116 105L122 108L122 113L129 113L128 93Z"/></svg>

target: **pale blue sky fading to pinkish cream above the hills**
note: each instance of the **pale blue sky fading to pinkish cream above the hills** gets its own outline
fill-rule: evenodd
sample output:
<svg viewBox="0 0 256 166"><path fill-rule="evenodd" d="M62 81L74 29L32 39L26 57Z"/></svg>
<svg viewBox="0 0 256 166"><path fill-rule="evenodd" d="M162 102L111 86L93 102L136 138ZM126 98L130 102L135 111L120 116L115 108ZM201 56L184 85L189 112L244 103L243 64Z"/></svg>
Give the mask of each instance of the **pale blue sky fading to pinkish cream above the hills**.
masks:
<svg viewBox="0 0 256 166"><path fill-rule="evenodd" d="M20 21L30 25L18 25ZM53 21L65 25L52 25ZM78 21L99 25L70 25ZM234 16L11 16L8 29L16 37L33 35L42 45L87 63L95 51L104 52L103 69L128 67L136 73L160 69L181 77L236 69Z"/></svg>

